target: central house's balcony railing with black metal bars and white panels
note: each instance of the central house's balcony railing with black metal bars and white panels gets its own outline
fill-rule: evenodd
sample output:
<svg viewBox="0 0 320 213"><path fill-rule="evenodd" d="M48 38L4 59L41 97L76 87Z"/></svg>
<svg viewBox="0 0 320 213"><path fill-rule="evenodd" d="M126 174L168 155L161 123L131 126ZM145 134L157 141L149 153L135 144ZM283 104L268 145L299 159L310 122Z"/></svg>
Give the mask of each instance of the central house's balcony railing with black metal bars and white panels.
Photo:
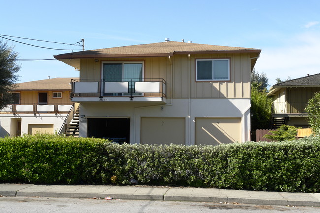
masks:
<svg viewBox="0 0 320 213"><path fill-rule="evenodd" d="M166 97L164 79L71 79L73 97Z"/></svg>

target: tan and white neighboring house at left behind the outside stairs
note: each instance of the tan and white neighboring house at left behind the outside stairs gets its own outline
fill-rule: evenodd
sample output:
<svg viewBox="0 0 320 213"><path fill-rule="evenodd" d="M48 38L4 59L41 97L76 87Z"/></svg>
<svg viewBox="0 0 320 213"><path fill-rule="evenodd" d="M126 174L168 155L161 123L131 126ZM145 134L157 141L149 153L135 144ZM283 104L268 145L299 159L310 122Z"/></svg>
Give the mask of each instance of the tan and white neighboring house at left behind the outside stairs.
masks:
<svg viewBox="0 0 320 213"><path fill-rule="evenodd" d="M64 133L69 112L74 111L70 82L71 78L53 78L16 84L11 102L0 110L0 137Z"/></svg>

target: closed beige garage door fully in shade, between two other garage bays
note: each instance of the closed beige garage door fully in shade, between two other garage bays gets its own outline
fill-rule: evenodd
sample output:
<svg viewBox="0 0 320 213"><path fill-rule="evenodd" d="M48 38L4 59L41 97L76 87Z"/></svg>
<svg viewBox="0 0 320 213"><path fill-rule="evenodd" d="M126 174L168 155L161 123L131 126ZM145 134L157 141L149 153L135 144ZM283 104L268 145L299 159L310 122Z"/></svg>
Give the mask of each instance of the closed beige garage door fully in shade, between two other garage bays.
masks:
<svg viewBox="0 0 320 213"><path fill-rule="evenodd" d="M141 144L185 144L185 118L141 118Z"/></svg>

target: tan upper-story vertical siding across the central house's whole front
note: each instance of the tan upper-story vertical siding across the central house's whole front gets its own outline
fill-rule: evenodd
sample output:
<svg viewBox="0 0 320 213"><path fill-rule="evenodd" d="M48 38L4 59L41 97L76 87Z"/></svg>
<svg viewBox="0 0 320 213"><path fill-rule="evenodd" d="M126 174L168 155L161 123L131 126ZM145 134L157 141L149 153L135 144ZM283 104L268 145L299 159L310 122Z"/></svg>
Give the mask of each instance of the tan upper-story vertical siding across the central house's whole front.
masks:
<svg viewBox="0 0 320 213"><path fill-rule="evenodd" d="M230 81L197 82L195 61L201 58L230 58ZM144 61L144 78L167 81L167 97L173 98L250 98L250 59L248 54L197 54L127 59L81 59L80 78L100 79L102 61ZM172 64L172 65L171 65ZM172 73L171 73L172 66ZM172 74L172 77L171 77ZM189 95L190 94L190 95Z"/></svg>

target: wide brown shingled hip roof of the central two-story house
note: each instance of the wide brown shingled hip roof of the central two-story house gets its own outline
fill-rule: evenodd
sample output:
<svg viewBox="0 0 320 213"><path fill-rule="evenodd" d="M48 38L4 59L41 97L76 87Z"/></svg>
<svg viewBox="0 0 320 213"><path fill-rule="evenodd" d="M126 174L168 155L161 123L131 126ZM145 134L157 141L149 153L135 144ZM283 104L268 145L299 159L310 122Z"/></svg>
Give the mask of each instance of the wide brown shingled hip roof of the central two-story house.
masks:
<svg viewBox="0 0 320 213"><path fill-rule="evenodd" d="M54 56L56 59L92 58L92 57L119 57L119 56L172 56L173 54L211 52L253 52L260 53L260 49L228 47L209 44L184 43L177 41L141 44L124 47L112 47L97 50L87 50L74 53L65 53Z"/></svg>

